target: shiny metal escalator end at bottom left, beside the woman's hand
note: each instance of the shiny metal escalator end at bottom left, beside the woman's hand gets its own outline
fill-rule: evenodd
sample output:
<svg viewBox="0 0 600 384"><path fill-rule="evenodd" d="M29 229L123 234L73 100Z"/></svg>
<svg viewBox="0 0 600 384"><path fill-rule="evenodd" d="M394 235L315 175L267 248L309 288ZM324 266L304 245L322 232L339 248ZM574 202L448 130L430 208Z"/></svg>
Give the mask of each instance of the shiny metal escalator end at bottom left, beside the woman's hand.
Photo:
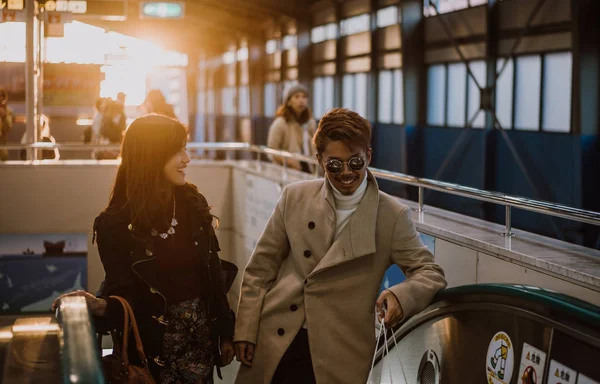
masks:
<svg viewBox="0 0 600 384"><path fill-rule="evenodd" d="M0 317L0 364L2 384L104 383L85 299L63 299L56 317Z"/></svg>

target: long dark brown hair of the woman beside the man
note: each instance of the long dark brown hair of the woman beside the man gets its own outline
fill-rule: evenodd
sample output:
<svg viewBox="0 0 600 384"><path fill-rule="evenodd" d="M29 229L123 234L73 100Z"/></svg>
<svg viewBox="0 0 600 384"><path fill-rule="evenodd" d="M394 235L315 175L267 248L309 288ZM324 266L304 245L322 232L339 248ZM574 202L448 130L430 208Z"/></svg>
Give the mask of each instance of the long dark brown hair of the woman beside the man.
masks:
<svg viewBox="0 0 600 384"><path fill-rule="evenodd" d="M166 227L173 209L173 186L164 166L183 149L186 139L185 127L170 117L150 114L135 119L123 139L106 212L128 210L132 225L142 232Z"/></svg>

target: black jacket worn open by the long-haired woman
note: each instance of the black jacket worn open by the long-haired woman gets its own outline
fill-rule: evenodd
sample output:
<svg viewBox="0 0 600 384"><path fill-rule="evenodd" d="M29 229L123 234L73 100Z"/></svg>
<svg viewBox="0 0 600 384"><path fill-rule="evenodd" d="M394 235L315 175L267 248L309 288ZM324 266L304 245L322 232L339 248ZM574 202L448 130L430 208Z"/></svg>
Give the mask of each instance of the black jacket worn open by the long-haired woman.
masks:
<svg viewBox="0 0 600 384"><path fill-rule="evenodd" d="M208 215L208 204L196 187L188 184L177 191L178 201L183 197L186 211L189 212L192 238L202 260L200 276L204 278L202 292L209 307L213 329L215 363L219 362L219 338L233 339L234 316L229 308L223 283L219 243L211 225L212 216ZM156 259L153 254L153 241L142 240L136 236L136 229L130 225L129 215L102 213L94 222L94 236L98 243L100 259L104 265L105 278L99 297L106 299L107 307L103 317L95 318L96 331L107 333L110 330L122 330L123 310L117 300L109 299L116 295L125 298L136 315L144 351L150 362L150 369L158 377L160 367L164 365L161 357L163 335L168 325L165 321L166 298L159 286ZM131 361L137 361L130 343ZM220 372L219 372L220 374Z"/></svg>

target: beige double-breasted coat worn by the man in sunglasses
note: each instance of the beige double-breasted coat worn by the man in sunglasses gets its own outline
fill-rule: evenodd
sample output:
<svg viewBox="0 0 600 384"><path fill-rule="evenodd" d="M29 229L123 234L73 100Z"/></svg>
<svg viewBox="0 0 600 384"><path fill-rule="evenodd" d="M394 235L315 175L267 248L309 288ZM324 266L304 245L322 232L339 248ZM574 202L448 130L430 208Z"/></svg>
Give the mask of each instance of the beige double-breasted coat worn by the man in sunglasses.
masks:
<svg viewBox="0 0 600 384"><path fill-rule="evenodd" d="M384 273L407 279L390 290L405 316L446 286L422 244L409 208L379 191L369 172L365 196L334 240L335 202L324 179L288 185L244 271L234 341L256 344L253 367L237 384L270 384L306 321L318 384L364 384L375 350L375 302Z"/></svg>

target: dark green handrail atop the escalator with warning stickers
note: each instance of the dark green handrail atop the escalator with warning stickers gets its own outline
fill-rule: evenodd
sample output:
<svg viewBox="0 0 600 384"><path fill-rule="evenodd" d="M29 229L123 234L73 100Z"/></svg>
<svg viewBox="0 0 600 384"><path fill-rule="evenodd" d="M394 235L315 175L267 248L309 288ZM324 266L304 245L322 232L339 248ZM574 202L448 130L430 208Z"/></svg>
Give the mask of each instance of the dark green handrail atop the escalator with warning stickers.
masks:
<svg viewBox="0 0 600 384"><path fill-rule="evenodd" d="M435 302L450 301L471 294L497 294L535 302L573 316L593 326L600 326L600 307L544 288L516 284L471 284L440 291Z"/></svg>

